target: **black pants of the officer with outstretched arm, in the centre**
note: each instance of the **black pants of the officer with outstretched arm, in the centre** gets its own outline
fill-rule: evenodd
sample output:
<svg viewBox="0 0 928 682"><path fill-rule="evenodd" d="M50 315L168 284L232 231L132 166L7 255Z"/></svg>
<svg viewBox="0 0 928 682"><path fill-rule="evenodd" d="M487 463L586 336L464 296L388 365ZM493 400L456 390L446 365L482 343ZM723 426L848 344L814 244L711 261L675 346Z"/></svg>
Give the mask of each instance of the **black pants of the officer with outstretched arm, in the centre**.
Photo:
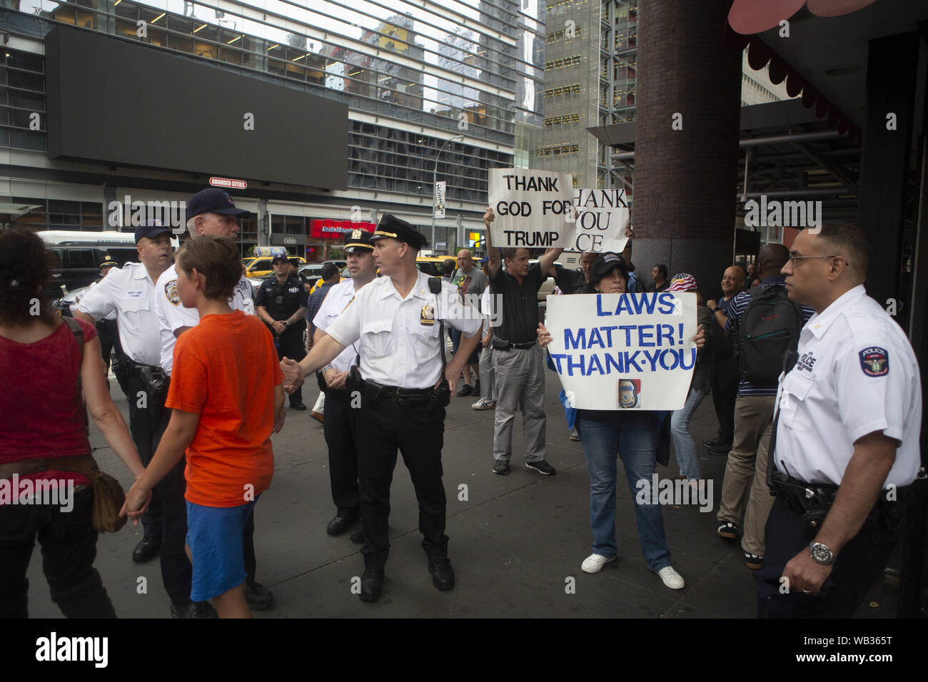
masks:
<svg viewBox="0 0 928 682"><path fill-rule="evenodd" d="M328 402L328 401L327 401ZM387 521L390 518L390 484L396 450L403 454L419 500L419 531L429 560L448 555L445 535L445 485L442 483L442 446L445 408L400 406L385 398L362 400L357 430L357 465L361 488L361 518L367 568L382 569L390 553Z"/></svg>

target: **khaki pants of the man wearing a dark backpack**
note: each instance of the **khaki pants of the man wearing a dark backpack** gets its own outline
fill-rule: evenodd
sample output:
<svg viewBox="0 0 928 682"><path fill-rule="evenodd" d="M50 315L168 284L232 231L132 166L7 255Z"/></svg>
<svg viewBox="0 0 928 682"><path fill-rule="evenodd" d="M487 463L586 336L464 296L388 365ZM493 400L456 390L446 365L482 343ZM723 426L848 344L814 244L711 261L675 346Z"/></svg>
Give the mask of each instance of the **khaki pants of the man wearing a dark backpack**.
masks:
<svg viewBox="0 0 928 682"><path fill-rule="evenodd" d="M764 526L774 499L767 488L767 447L775 403L773 395L739 395L735 401L735 438L715 517L738 523L744 511L741 548L758 557L764 556Z"/></svg>

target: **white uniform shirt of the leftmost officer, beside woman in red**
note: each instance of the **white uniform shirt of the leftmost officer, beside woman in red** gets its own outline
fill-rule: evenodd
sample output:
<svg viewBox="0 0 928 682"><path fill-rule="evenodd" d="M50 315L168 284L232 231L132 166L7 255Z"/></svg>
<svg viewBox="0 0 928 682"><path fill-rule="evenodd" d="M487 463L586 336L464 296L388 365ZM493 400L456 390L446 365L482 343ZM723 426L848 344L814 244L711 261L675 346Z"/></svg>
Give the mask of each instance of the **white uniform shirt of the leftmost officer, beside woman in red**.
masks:
<svg viewBox="0 0 928 682"><path fill-rule="evenodd" d="M154 310L155 283L141 263L113 268L96 287L87 290L77 309L100 320L113 311L119 324L122 351L142 365L158 365L161 340Z"/></svg>

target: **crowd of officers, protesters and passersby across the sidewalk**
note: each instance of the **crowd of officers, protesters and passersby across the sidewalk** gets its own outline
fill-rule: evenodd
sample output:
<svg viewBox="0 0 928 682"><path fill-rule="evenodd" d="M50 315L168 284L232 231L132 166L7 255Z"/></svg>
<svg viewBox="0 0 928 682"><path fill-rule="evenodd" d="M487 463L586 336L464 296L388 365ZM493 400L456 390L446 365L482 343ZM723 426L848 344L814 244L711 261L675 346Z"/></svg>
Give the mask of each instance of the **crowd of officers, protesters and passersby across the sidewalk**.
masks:
<svg viewBox="0 0 928 682"><path fill-rule="evenodd" d="M517 413L525 466L556 474L544 409L551 335L537 301L547 277L561 295L693 291L697 300L697 361L679 409L575 409L561 392L589 475L593 542L584 572L598 573L619 552L618 458L648 568L671 589L685 586L659 501L642 503L636 492L667 463L662 441L673 443L684 484L705 490L690 422L710 393L718 431L703 445L726 457L717 534L741 536L759 615L849 616L885 565L898 535L896 501L918 470L921 386L909 341L863 288L868 251L856 227L824 225L789 249L768 244L756 264L725 270L714 300L686 272L669 276L665 264L654 264L645 286L631 230L625 251L583 253L578 271L557 263L561 249L530 264L529 250L493 245L492 209L486 258L461 250L443 277L429 277L416 260L427 240L385 215L372 234L346 234L344 281L327 264L309 295L279 256L252 298L230 238L243 213L224 190L198 192L187 202L190 238L176 254L169 228L139 226L139 262L101 265L107 272L74 320L53 315L43 299L42 241L23 228L0 233L0 378L22 386L15 398L0 395L0 480L68 483L76 492L67 513L0 500L0 616L28 613L35 537L65 615L115 615L93 567L100 489L84 405L133 475L121 509L144 530L133 559L160 553L172 615L248 617L271 608L273 595L256 580L254 509L273 477L271 436L285 428L285 396L305 410L311 375L335 508L327 533L350 532L362 545L359 597L382 593L398 454L416 490L432 584L453 589L442 479L452 398L470 395L478 398L472 409L495 410L494 474L509 473ZM114 323L128 426L106 382ZM59 399L45 400L51 394Z"/></svg>

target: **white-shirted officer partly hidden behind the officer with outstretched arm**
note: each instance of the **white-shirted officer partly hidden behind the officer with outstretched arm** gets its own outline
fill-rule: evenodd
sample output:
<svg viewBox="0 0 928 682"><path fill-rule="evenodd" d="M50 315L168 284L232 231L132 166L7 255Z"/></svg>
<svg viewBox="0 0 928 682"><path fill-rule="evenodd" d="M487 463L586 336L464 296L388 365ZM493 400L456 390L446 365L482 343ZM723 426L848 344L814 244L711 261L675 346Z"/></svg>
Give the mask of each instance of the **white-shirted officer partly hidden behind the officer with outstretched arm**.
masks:
<svg viewBox="0 0 928 682"><path fill-rule="evenodd" d="M345 260L351 279L332 286L319 306L313 325L316 339L321 339L332 323L354 301L358 290L373 281L377 275L374 264L374 242L365 230L352 230L346 235ZM315 342L316 340L314 340ZM319 387L326 393L323 407L323 431L329 445L329 479L335 517L329 521L326 532L340 535L354 526L352 542L364 542L361 516L361 498L357 485L357 409L351 406L351 392L345 386L348 371L356 365L357 343L345 348L338 357L319 370Z"/></svg>

